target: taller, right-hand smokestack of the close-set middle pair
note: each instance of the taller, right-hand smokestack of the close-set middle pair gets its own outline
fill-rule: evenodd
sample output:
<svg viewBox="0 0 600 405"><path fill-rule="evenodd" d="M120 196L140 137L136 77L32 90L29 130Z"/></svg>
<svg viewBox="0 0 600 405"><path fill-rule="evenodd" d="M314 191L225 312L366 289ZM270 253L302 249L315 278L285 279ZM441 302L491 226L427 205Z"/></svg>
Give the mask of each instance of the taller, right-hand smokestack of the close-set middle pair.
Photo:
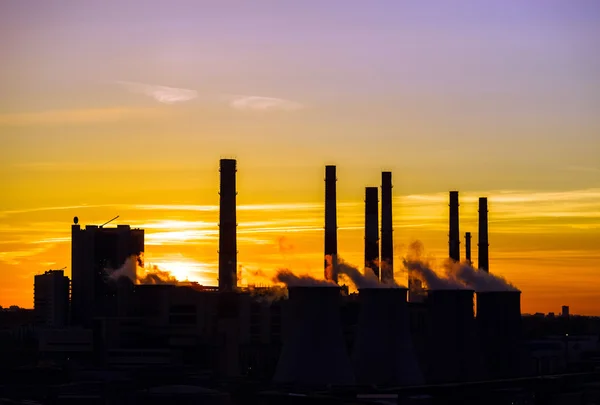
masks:
<svg viewBox="0 0 600 405"><path fill-rule="evenodd" d="M392 172L381 173L381 282L394 281Z"/></svg>

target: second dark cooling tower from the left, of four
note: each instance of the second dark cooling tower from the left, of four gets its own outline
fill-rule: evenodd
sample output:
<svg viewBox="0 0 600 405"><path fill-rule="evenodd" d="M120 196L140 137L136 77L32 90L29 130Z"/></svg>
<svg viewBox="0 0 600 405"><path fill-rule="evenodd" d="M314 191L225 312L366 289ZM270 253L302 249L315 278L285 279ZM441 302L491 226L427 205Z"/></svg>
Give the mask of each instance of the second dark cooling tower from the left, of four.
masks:
<svg viewBox="0 0 600 405"><path fill-rule="evenodd" d="M410 335L405 288L361 288L352 352L360 384L421 385L423 376Z"/></svg>

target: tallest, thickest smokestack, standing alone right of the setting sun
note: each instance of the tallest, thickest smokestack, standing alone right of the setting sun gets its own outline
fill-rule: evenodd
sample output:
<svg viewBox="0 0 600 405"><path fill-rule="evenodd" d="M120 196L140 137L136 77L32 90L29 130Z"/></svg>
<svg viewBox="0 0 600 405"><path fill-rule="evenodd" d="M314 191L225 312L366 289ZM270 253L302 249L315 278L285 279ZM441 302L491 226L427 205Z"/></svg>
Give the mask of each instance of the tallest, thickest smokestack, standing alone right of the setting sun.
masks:
<svg viewBox="0 0 600 405"><path fill-rule="evenodd" d="M219 291L237 287L235 159L221 159L219 205Z"/></svg>

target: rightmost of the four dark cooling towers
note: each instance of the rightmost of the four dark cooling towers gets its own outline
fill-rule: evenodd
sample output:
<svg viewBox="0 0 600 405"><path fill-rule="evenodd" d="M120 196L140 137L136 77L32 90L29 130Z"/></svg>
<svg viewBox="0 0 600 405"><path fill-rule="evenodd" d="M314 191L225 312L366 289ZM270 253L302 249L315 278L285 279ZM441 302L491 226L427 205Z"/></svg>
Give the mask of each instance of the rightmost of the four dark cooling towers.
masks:
<svg viewBox="0 0 600 405"><path fill-rule="evenodd" d="M476 321L489 377L518 377L521 366L521 292L478 292Z"/></svg>

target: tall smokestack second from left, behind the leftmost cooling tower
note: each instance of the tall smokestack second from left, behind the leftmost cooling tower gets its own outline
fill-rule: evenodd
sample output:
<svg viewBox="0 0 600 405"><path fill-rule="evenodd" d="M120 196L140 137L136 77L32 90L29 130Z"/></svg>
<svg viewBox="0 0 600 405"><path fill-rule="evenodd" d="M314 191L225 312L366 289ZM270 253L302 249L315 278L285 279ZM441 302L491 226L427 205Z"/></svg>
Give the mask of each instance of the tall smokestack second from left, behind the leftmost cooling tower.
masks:
<svg viewBox="0 0 600 405"><path fill-rule="evenodd" d="M337 208L336 168L325 166L325 279L337 283ZM331 258L331 263L327 262Z"/></svg>

